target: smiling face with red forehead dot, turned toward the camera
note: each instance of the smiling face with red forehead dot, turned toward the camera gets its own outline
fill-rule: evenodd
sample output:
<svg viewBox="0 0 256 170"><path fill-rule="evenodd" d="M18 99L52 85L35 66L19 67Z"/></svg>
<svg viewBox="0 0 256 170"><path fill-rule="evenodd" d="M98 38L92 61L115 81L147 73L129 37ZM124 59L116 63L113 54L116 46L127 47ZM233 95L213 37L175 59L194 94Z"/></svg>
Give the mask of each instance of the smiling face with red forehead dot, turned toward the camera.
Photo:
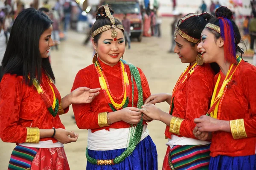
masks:
<svg viewBox="0 0 256 170"><path fill-rule="evenodd" d="M122 30L116 28L116 41L111 37L111 31L102 32L97 43L93 40L93 48L96 50L101 61L107 65L113 66L125 53L125 37Z"/></svg>

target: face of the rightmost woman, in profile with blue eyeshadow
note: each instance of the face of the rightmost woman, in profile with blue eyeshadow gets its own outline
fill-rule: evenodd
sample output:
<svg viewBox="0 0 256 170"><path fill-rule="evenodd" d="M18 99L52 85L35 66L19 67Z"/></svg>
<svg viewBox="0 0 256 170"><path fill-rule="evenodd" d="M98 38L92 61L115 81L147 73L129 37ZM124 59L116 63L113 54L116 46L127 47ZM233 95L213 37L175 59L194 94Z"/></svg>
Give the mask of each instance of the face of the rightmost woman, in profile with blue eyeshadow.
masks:
<svg viewBox="0 0 256 170"><path fill-rule="evenodd" d="M223 45L221 37L216 40L215 35L208 28L204 28L198 51L202 54L205 63L223 62L224 59L221 59L221 54L224 54Z"/></svg>

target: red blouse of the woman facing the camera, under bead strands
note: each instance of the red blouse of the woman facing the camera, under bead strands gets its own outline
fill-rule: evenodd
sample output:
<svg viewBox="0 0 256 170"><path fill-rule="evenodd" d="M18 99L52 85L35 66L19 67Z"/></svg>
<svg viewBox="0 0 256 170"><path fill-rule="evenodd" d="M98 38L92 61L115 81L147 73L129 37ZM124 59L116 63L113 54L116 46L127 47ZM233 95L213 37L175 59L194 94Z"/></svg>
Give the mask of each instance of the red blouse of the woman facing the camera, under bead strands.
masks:
<svg viewBox="0 0 256 170"><path fill-rule="evenodd" d="M102 70L104 71L105 76L108 79L109 87L111 89L111 92L114 96L121 96L122 95L122 79L121 79L121 72L119 64L114 65L113 67L104 64L102 61L99 60L99 63L102 67ZM130 82L130 88L131 88L131 72L129 69L129 66L127 64L124 64L128 79ZM148 86L148 81L141 71L140 68L138 68L140 72L140 78L141 78L141 84L143 89L143 101L147 99L151 93ZM99 84L99 77L96 72L96 68L94 64L89 65L88 67L80 70L78 74L76 75L76 79L73 84L73 88L71 91L75 90L76 88L86 86L88 88L101 88ZM132 89L131 94L129 96L129 103L128 107L132 106L131 102L132 98ZM138 91L137 86L134 81L134 107L137 107L137 99L138 99ZM115 100L117 103L121 103L122 99ZM130 124L119 121L113 123L111 126L108 127L99 127L98 124L98 114L102 112L113 112L111 108L108 105L108 101L105 98L105 95L103 94L103 91L100 90L100 94L93 99L93 102L89 104L73 104L73 111L76 118L76 124L79 127L79 129L91 129L92 132L95 132L97 130L106 129L109 130L109 128L128 128L130 127ZM144 122L145 124L145 122Z"/></svg>

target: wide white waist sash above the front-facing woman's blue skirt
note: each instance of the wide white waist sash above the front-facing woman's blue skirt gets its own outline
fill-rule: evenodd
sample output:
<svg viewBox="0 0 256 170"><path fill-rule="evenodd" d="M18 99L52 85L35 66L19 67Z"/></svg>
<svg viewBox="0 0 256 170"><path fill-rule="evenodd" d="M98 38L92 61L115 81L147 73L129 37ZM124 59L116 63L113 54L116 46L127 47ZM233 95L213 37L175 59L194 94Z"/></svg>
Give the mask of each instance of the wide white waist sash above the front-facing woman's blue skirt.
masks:
<svg viewBox="0 0 256 170"><path fill-rule="evenodd" d="M140 141L148 136L147 125L144 125ZM88 130L88 149L90 150L115 150L127 147L129 128L102 129L92 133ZM129 136L130 138L130 136Z"/></svg>

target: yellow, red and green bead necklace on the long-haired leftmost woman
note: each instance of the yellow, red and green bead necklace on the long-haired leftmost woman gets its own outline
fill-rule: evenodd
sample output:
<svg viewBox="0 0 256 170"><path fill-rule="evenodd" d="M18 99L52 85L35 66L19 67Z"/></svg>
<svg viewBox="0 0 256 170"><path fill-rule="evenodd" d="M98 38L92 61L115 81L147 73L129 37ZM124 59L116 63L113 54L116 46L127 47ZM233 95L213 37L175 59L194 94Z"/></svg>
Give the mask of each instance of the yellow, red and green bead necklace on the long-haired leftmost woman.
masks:
<svg viewBox="0 0 256 170"><path fill-rule="evenodd" d="M55 97L55 92L54 89L52 87L53 82L51 79L49 79L49 76L46 75L47 77L47 82L52 90L52 94L53 94L53 102L51 101L49 95L46 93L46 91L44 90L43 86L41 85L41 83L38 82L37 79L33 79L33 85L35 86L36 90L38 91L38 94L41 96L41 98L43 99L45 105L47 106L48 111L51 113L51 115L53 117L55 117L58 113L58 107L59 107L59 100L58 98Z"/></svg>

